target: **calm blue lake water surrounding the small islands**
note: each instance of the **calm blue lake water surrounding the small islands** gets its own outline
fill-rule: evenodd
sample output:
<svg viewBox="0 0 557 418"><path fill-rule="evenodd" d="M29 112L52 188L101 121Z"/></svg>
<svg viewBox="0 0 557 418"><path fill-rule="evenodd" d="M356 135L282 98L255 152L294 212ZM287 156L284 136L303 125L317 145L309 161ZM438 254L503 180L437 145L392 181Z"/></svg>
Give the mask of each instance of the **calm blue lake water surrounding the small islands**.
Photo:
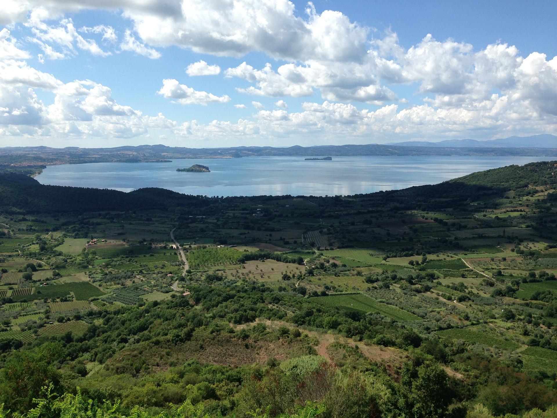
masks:
<svg viewBox="0 0 557 418"><path fill-rule="evenodd" d="M48 166L36 179L57 186L129 192L161 187L189 195L334 196L435 184L488 168L543 161L543 157L304 157L175 159L170 163L92 163ZM177 172L193 164L211 173Z"/></svg>

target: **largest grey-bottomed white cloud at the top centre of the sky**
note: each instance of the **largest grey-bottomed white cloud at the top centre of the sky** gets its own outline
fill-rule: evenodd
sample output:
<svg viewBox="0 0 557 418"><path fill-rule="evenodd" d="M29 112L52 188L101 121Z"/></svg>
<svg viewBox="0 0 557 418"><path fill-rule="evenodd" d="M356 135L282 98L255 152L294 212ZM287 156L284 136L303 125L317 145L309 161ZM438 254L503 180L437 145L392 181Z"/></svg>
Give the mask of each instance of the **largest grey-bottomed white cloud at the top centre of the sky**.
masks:
<svg viewBox="0 0 557 418"><path fill-rule="evenodd" d="M366 28L340 12L310 7L296 16L286 0L184 0L178 13L129 7L125 16L151 45L178 45L214 55L242 56L262 51L276 59L358 61L365 55Z"/></svg>

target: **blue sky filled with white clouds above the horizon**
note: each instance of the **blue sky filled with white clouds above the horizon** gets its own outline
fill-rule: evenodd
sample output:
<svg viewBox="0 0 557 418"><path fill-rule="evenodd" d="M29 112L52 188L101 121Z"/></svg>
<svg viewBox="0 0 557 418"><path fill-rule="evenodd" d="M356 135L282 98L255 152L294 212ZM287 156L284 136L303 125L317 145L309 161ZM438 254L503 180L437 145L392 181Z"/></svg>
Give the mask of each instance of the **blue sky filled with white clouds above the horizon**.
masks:
<svg viewBox="0 0 557 418"><path fill-rule="evenodd" d="M557 134L557 2L2 0L0 146Z"/></svg>

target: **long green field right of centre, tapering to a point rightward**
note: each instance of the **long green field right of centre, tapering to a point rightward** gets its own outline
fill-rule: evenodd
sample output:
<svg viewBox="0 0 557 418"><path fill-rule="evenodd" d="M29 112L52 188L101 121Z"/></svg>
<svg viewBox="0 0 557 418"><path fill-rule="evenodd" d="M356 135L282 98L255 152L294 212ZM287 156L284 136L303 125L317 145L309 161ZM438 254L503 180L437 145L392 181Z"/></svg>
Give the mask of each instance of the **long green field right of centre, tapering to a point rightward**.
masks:
<svg viewBox="0 0 557 418"><path fill-rule="evenodd" d="M346 294L346 295L333 295L333 296L323 296L311 299L315 303L319 303L326 306L341 307L347 309L355 309L360 312L369 313L377 312L385 317L400 321L421 321L422 318L406 312L405 310L399 309L393 305L387 305L385 303L377 302L375 299L369 297L365 294Z"/></svg>

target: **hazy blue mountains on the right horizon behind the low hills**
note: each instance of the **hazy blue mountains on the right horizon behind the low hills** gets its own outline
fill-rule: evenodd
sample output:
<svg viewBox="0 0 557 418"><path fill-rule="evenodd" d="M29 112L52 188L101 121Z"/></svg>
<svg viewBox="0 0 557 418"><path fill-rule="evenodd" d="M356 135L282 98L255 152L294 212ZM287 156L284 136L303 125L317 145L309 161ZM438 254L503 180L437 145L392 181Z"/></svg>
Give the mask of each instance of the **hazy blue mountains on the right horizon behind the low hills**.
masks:
<svg viewBox="0 0 557 418"><path fill-rule="evenodd" d="M392 142L387 145L441 148L557 148L557 137L551 134L540 134L532 135L531 137L509 137L485 141L478 141L476 139L447 139L440 142Z"/></svg>

